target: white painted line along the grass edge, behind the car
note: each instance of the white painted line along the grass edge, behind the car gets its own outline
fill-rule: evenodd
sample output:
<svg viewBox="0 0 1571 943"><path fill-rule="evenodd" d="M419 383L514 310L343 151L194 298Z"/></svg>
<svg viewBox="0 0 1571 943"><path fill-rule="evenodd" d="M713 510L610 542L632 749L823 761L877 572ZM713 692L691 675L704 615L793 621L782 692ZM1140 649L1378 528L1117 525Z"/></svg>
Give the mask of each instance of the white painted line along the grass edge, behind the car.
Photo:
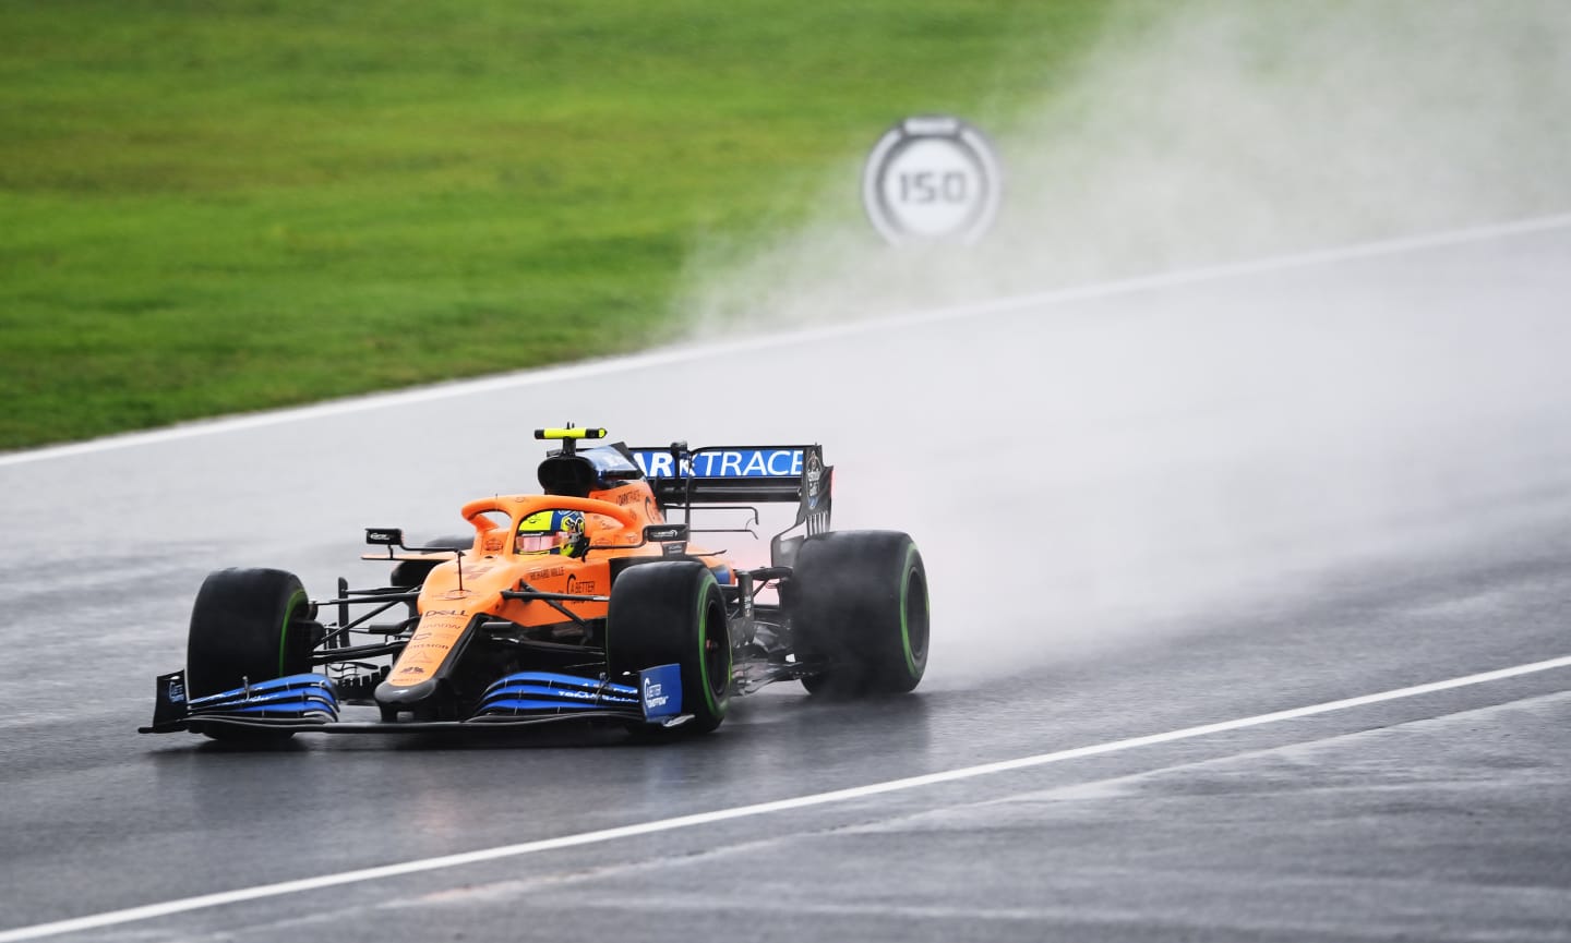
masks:
<svg viewBox="0 0 1571 943"><path fill-rule="evenodd" d="M474 395L500 389L539 386L542 383L558 383L561 380L583 380L588 377L624 373L647 367L663 367L669 364L680 364L696 359L748 353L771 347L814 344L833 337L866 334L870 331L888 331L891 328L900 328L900 326L913 326L913 325L924 325L924 323L935 323L935 322L946 322L946 320L957 320L968 317L985 317L991 314L1009 314L1031 308L1051 308L1056 304L1068 304L1073 301L1084 301L1090 298L1106 298L1111 295L1150 292L1155 289L1166 289L1166 287L1186 286L1207 281L1221 281L1221 279L1241 278L1268 271L1284 271L1290 268L1307 268L1313 265L1327 265L1334 262L1349 262L1356 259L1370 259L1376 256L1395 256L1401 253L1414 253L1422 249L1433 249L1433 248L1463 245L1472 242L1488 242L1494 238L1507 238L1513 235L1527 235L1533 232L1547 232L1566 228L1571 228L1571 213L1555 215L1555 217L1540 217L1533 220L1518 220L1511 223L1497 223L1491 226L1474 226L1469 229L1430 232L1425 235L1357 243L1332 249L1296 253L1290 256L1273 256L1268 259L1255 259L1251 262L1211 265L1205 268L1191 268L1185 271L1170 271L1164 275L1150 275L1141 278L1095 282L1089 286L1057 289L1051 292L1013 295L1009 298L994 298L990 301L952 304L947 308L933 308L927 311L900 312L883 317L872 317L866 320L850 319L829 326L806 328L778 334L757 334L751 337L737 337L732 340L718 340L710 344L669 347L663 350L654 350L647 353L636 353L619 358L566 364L559 367L544 367L537 370L520 370L515 373L500 373L495 377L484 377L479 380L459 380L454 383L441 383L437 386L419 386L396 392L383 392L383 394L371 394L346 400L333 400L327 403L317 403L313 406L295 406L287 410L275 410L269 413L251 413L245 416L234 416L225 419L198 421L168 428L159 428L152 431L126 433L102 439L91 439L86 442L72 442L68 446L50 446L25 452L0 453L0 468L11 464L28 464L33 461L49 461L53 458L93 455L97 452L129 449L134 446L152 446L159 442L171 442L196 436L209 436L217 433L259 428L267 425L281 425L287 422L302 422L308 419L320 419L328 416L342 416L349 413L364 413L369 410L383 410L408 403L427 403L434 400Z"/></svg>

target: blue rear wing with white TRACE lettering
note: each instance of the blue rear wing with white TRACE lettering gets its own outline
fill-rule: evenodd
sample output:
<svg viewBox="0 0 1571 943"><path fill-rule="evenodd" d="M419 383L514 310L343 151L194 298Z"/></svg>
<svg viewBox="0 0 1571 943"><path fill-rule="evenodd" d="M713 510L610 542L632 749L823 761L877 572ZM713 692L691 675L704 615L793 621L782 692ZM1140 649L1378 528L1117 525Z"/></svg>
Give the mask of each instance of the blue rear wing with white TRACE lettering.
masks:
<svg viewBox="0 0 1571 943"><path fill-rule="evenodd" d="M705 446L687 442L627 450L661 510L716 504L796 502L807 533L829 529L834 468L822 446Z"/></svg>

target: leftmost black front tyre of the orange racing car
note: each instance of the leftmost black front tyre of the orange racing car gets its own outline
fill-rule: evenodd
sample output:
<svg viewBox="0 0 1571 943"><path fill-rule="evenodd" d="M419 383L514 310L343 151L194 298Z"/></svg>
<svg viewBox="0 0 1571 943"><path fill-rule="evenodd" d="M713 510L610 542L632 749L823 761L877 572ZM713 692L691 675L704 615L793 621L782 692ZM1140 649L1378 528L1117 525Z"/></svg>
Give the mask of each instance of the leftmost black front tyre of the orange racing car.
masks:
<svg viewBox="0 0 1571 943"><path fill-rule="evenodd" d="M217 570L192 607L185 690L192 698L311 670L317 639L305 587L283 570ZM283 741L292 731L207 728L215 741Z"/></svg>

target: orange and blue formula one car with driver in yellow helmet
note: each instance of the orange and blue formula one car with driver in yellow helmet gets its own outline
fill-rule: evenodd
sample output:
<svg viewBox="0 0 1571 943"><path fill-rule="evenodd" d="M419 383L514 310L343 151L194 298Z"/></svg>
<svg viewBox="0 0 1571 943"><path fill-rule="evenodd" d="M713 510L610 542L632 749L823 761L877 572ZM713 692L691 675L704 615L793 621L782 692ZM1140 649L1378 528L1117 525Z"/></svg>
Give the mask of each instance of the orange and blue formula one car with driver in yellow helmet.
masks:
<svg viewBox="0 0 1571 943"><path fill-rule="evenodd" d="M382 549L361 559L391 562L391 585L339 579L335 598L308 601L281 570L209 574L185 670L159 678L141 733L270 741L592 719L663 737L715 730L732 695L775 681L861 695L922 679L922 555L905 533L829 530L834 469L818 446L581 446L605 430L572 425L534 436L561 442L539 466L544 493L465 504L473 533L407 548L401 529L366 530ZM796 504L768 566L690 541L753 532L765 502ZM743 526L701 529L694 512ZM341 717L357 706L375 715Z"/></svg>

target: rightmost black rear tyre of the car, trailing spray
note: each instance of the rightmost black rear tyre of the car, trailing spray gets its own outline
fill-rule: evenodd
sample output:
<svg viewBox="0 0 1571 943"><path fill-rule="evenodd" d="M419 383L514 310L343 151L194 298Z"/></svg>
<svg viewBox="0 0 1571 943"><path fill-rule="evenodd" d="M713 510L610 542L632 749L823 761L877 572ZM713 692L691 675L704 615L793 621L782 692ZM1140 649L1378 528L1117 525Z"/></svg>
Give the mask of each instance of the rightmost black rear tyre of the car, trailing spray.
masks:
<svg viewBox="0 0 1571 943"><path fill-rule="evenodd" d="M809 694L905 694L927 672L927 568L895 530L839 530L803 541L790 581L796 661L820 665Z"/></svg>

